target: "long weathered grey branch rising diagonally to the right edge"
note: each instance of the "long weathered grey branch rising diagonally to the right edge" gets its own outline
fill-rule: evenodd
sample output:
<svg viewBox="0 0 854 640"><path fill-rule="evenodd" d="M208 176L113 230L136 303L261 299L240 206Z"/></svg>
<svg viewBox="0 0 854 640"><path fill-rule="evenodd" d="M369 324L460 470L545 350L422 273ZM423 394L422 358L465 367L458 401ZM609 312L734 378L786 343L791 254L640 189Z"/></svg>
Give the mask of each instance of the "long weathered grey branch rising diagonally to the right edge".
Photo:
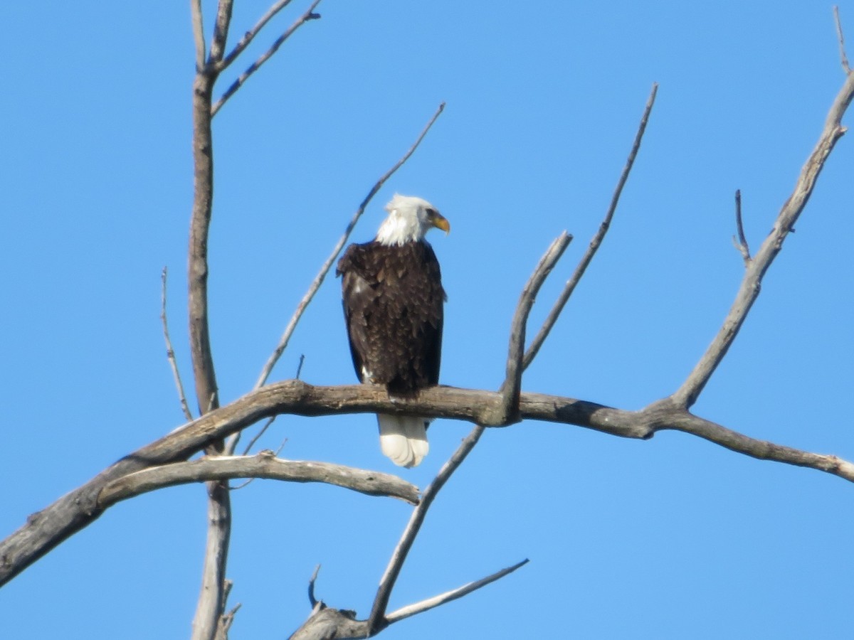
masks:
<svg viewBox="0 0 854 640"><path fill-rule="evenodd" d="M691 408L699 398L699 394L703 392L718 364L721 364L722 359L727 355L729 347L733 344L735 336L738 335L741 325L745 322L747 313L759 296L759 289L762 286L762 278L765 272L768 271L771 263L780 253L783 241L786 240L801 212L804 211L807 201L810 200L812 190L816 186L816 179L822 172L828 155L839 138L845 134L845 127L842 126L841 121L845 109L851 104L852 98L854 98L854 73L848 73L845 84L839 90L839 94L830 108L830 113L828 113L816 147L801 169L792 195L789 196L778 214L774 229L765 238L752 262L747 266L739 291L735 295L735 301L730 307L721 329L703 357L694 366L686 381L673 394L672 399L679 406L685 409Z"/></svg>

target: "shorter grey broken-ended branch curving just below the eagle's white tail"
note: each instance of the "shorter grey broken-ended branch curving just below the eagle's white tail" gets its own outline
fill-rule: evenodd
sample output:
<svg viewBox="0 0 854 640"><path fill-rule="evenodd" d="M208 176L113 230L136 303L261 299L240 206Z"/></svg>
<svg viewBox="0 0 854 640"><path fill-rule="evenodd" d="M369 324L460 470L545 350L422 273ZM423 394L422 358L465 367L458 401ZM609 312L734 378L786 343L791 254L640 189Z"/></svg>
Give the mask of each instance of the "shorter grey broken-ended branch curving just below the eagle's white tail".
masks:
<svg viewBox="0 0 854 640"><path fill-rule="evenodd" d="M396 475L340 464L282 460L272 451L261 451L255 456L203 457L188 463L172 463L124 475L102 489L98 506L106 509L120 500L167 486L235 478L324 482L369 496L398 497L410 504L418 503L418 487Z"/></svg>

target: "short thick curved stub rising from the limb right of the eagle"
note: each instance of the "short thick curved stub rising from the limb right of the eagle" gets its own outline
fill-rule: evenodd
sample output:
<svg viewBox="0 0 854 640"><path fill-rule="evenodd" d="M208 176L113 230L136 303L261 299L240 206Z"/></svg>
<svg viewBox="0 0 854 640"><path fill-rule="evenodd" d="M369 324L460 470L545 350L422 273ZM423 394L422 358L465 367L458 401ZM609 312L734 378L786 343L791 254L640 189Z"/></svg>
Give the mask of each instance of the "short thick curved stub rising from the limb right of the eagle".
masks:
<svg viewBox="0 0 854 640"><path fill-rule="evenodd" d="M518 415L519 393L522 390L522 363L525 350L525 326L531 307L534 305L536 295L540 292L542 283L546 282L548 274L552 272L554 265L558 263L560 256L564 254L566 247L570 246L572 236L564 231L549 245L546 253L543 253L540 262L537 263L534 272L525 283L519 302L516 305L516 313L510 327L510 345L507 347L507 367L504 383L501 385L501 422L512 422Z"/></svg>

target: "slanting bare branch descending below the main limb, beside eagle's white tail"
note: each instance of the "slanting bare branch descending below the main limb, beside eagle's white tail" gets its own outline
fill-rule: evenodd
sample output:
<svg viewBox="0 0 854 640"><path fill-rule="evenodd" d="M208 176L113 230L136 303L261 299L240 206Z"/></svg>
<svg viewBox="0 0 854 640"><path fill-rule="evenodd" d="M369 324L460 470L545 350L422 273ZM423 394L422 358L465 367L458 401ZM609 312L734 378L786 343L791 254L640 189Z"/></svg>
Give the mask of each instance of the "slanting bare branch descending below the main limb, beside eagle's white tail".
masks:
<svg viewBox="0 0 854 640"><path fill-rule="evenodd" d="M471 433L463 439L457 451L454 451L453 455L448 458L447 463L439 469L439 473L430 482L430 486L424 490L424 493L421 495L421 502L418 503L415 509L412 509L412 516L409 518L407 528L404 530L403 535L401 535L401 540L389 560L389 566L386 568L383 578L379 582L377 596L374 598L373 607L371 607L371 617L368 619L368 628L371 631L371 636L389 624L385 619L385 610L389 606L391 591L395 588L395 582L401 573L403 563L407 560L407 554L412 549L412 543L415 542L418 531L424 523L424 516L427 515L427 510L430 509L430 505L436 499L436 495L442 490L442 486L445 486L448 478L459 468L465 457L477 445L477 440L483 435L484 430L485 427L481 425L476 425L471 430Z"/></svg>

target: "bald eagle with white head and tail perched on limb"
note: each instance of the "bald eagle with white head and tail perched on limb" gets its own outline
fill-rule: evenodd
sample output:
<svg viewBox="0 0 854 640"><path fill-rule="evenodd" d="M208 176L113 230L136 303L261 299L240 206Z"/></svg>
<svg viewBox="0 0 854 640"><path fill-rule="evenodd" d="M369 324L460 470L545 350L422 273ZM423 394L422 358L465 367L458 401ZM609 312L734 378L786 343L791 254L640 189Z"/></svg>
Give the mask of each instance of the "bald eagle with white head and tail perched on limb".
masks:
<svg viewBox="0 0 854 640"><path fill-rule="evenodd" d="M439 381L445 291L424 235L451 229L430 202L396 195L377 237L351 244L338 261L350 354L359 380L384 385L389 396L412 397ZM414 467L430 449L429 418L377 415L383 453Z"/></svg>

